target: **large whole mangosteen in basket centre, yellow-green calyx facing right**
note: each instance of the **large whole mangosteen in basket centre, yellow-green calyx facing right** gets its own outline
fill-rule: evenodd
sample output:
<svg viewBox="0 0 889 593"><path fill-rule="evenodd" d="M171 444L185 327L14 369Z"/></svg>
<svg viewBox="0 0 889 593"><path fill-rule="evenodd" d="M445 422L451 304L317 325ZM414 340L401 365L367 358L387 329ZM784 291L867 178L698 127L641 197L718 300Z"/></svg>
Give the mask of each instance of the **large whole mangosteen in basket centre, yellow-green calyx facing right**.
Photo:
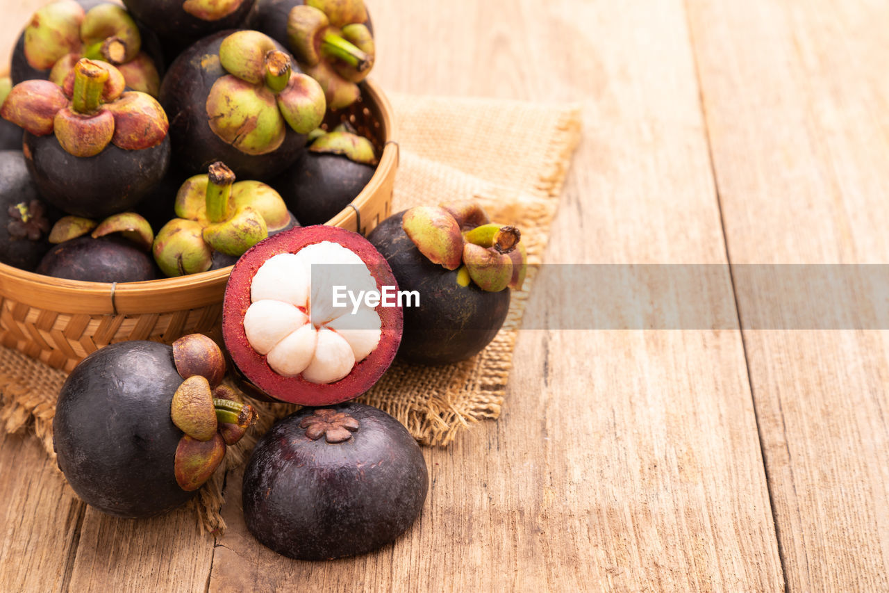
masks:
<svg viewBox="0 0 889 593"><path fill-rule="evenodd" d="M257 31L222 31L172 63L161 86L174 159L191 175L221 160L266 181L300 156L324 118L324 92L282 45Z"/></svg>

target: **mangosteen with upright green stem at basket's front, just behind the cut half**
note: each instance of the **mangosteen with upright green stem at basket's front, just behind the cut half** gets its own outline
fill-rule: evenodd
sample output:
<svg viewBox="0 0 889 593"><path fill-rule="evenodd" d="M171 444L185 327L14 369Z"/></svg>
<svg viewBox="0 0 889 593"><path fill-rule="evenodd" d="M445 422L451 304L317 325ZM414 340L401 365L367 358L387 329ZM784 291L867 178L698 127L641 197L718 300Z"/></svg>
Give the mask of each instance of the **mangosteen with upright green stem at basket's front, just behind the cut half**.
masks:
<svg viewBox="0 0 889 593"><path fill-rule="evenodd" d="M176 215L157 233L153 253L167 276L218 270L266 237L298 223L265 183L235 183L224 163L195 175L176 194Z"/></svg>

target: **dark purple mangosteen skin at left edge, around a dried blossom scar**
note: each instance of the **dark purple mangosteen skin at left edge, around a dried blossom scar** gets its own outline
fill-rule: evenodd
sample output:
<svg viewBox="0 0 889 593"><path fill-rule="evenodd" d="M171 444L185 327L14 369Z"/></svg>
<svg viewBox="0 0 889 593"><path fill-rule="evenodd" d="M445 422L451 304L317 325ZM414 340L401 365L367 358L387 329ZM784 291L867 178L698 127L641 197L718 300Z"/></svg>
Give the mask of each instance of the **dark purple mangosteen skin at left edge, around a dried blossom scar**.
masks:
<svg viewBox="0 0 889 593"><path fill-rule="evenodd" d="M0 262L22 270L33 272L40 258L52 247L46 240L47 233L41 233L38 240L12 238L9 234L9 208L24 202L37 200L44 203L47 220L52 224L52 208L37 194L37 188L21 150L0 151Z"/></svg>

